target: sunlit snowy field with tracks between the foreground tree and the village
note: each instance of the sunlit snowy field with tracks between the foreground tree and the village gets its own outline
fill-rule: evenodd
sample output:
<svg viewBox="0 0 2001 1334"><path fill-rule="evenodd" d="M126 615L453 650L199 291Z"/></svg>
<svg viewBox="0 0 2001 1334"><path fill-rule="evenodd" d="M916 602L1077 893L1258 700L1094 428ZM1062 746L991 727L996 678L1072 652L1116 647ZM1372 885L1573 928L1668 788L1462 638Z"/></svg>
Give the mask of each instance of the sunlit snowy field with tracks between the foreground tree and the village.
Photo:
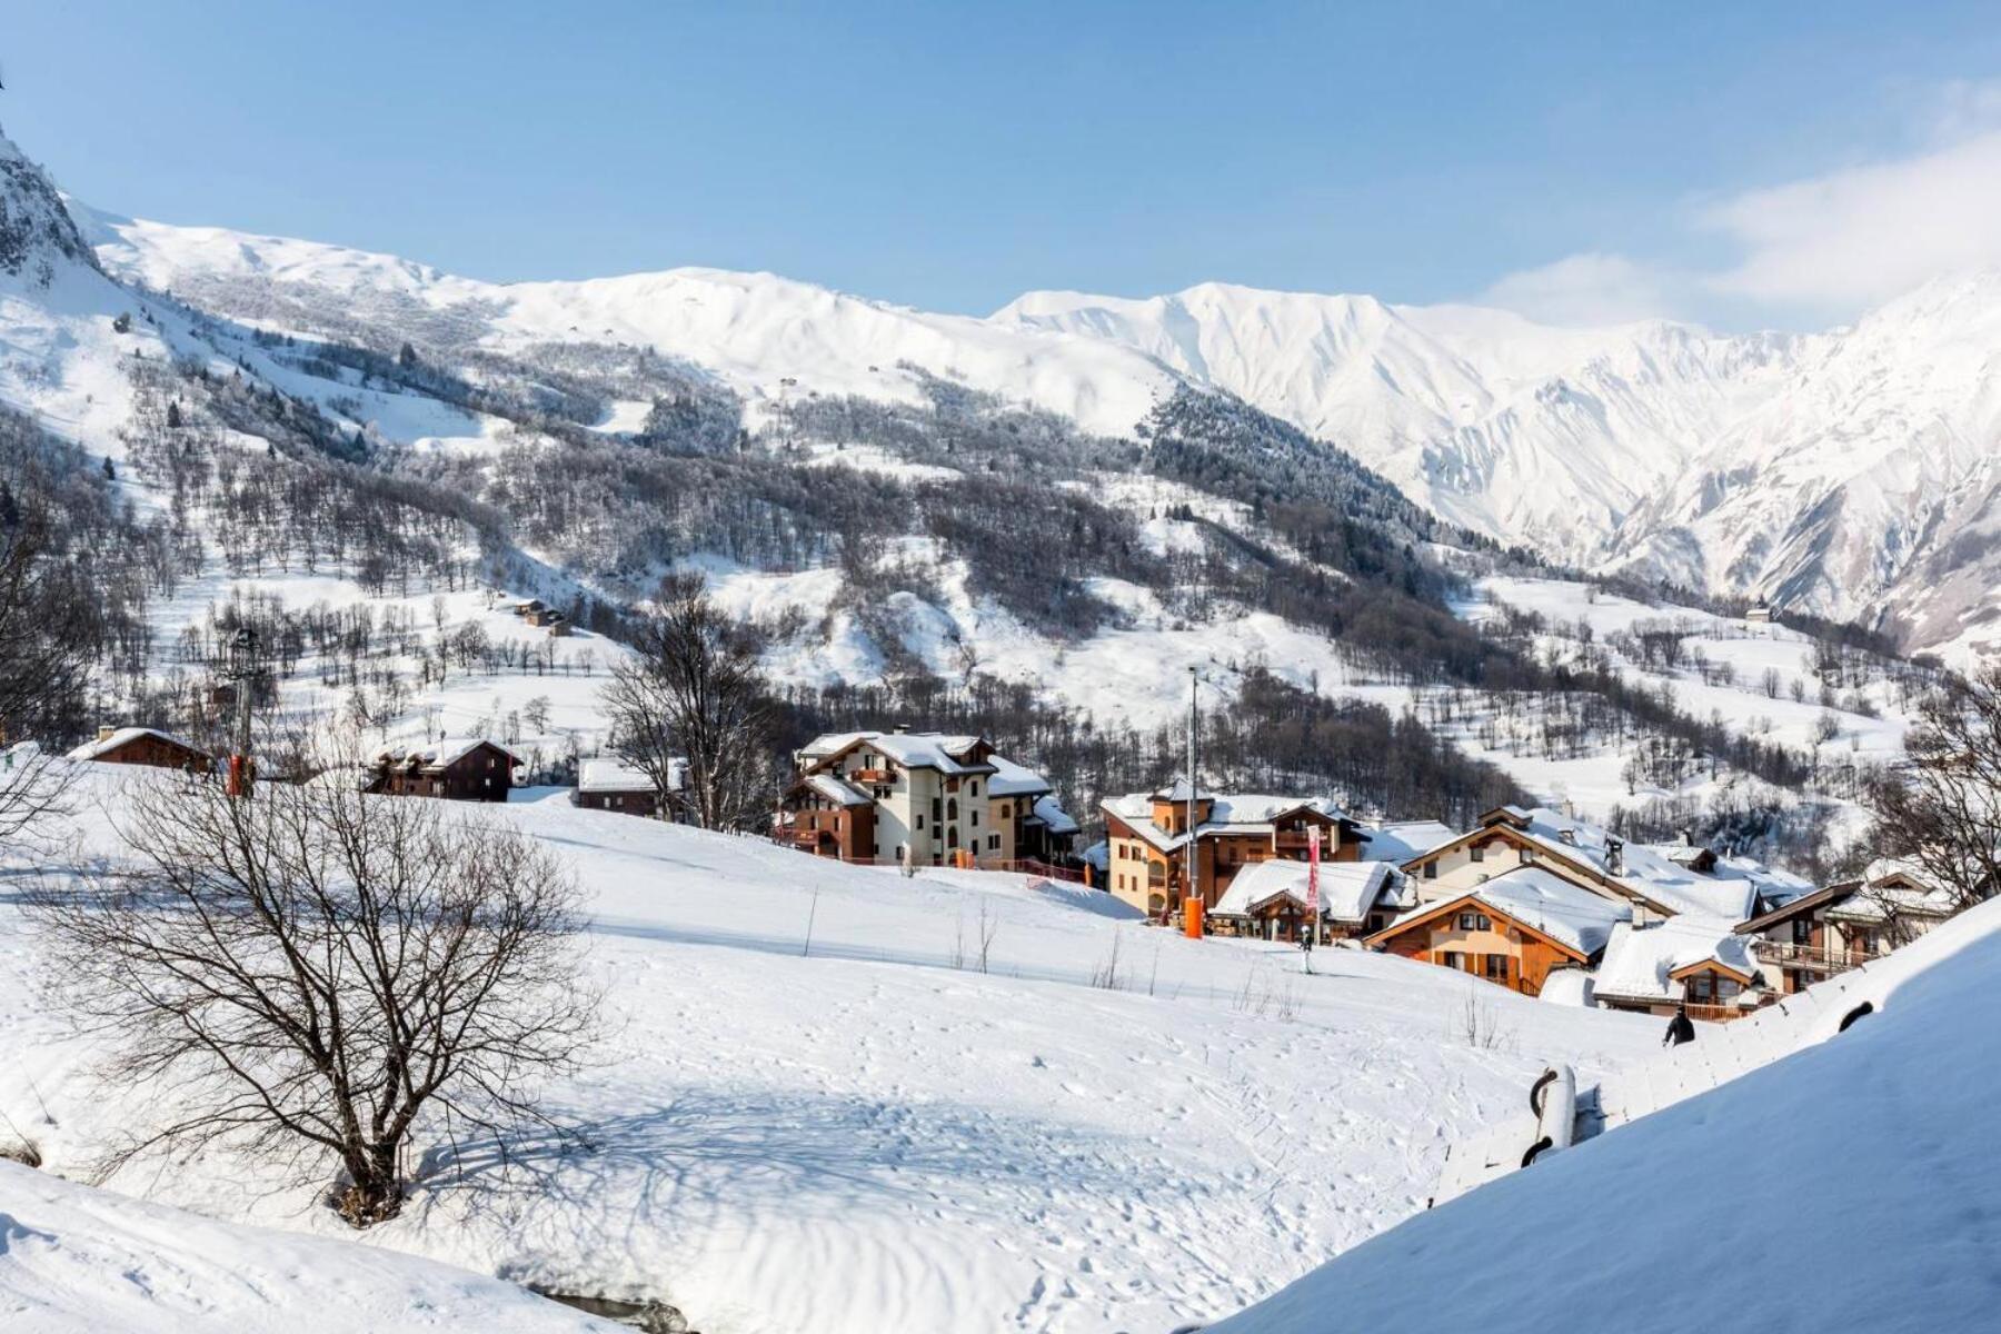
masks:
<svg viewBox="0 0 2001 1334"><path fill-rule="evenodd" d="M96 768L78 854L116 854L120 784L154 780ZM662 1298L710 1334L1217 1318L1419 1210L1445 1144L1541 1062L1601 1076L1657 1042L1387 956L1323 950L1303 976L1293 950L1189 942L1087 890L904 880L524 796L486 814L592 894L616 1036L550 1100L598 1148L528 1192L476 1164L428 1180L362 1240ZM36 966L0 890L0 1046L26 1054L0 1114L78 1172L152 1090L92 1086ZM112 1184L350 1236L224 1154Z"/></svg>

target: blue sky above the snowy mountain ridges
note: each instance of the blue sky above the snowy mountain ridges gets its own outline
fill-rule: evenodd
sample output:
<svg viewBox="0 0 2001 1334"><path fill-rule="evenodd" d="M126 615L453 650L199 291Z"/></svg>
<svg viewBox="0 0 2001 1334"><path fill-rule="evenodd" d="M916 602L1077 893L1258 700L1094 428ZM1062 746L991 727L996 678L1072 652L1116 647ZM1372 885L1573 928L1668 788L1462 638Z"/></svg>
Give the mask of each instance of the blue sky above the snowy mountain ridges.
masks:
<svg viewBox="0 0 2001 1334"><path fill-rule="evenodd" d="M104 0L10 14L0 62L0 124L102 208L492 280L714 264L966 312L1215 278L1837 318L1989 258L1949 238L1877 272L1887 196L1931 178L1867 174L2001 128L1991 4ZM1815 192L1857 172L1861 232L1817 234ZM1819 254L1871 272L1815 280Z"/></svg>

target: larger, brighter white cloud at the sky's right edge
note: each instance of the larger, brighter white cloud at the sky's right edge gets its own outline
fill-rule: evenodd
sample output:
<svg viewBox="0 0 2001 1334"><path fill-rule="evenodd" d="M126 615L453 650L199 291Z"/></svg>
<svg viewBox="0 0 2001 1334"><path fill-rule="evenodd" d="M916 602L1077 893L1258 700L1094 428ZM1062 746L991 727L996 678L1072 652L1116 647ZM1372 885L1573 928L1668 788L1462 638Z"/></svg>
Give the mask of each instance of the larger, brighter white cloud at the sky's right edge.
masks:
<svg viewBox="0 0 2001 1334"><path fill-rule="evenodd" d="M1707 280L1759 302L1853 314L1945 272L2001 264L2001 130L1901 162L1751 190L1701 224L1743 258Z"/></svg>

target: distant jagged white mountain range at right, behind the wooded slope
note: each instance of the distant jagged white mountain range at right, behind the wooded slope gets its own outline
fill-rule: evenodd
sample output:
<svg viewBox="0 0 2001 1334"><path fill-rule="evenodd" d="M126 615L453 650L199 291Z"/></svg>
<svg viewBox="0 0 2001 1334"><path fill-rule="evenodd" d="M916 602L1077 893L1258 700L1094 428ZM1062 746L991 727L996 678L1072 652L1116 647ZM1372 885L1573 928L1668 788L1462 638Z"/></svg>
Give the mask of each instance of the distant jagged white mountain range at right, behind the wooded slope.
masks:
<svg viewBox="0 0 2001 1334"><path fill-rule="evenodd" d="M1551 330L1219 284L1037 292L994 318L1145 350L1585 568L1879 622L1915 648L1975 646L2001 616L1997 274L1811 336Z"/></svg>

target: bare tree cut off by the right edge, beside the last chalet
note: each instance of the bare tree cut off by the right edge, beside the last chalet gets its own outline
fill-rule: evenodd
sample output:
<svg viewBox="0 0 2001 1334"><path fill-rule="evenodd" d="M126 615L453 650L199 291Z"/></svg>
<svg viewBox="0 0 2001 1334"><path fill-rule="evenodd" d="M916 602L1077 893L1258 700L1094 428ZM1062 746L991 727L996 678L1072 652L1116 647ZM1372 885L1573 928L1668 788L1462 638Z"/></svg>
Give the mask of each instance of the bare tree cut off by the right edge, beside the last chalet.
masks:
<svg viewBox="0 0 2001 1334"><path fill-rule="evenodd" d="M2001 888L2001 666L1931 694L1903 746L1873 790L1877 850L1971 906Z"/></svg>

